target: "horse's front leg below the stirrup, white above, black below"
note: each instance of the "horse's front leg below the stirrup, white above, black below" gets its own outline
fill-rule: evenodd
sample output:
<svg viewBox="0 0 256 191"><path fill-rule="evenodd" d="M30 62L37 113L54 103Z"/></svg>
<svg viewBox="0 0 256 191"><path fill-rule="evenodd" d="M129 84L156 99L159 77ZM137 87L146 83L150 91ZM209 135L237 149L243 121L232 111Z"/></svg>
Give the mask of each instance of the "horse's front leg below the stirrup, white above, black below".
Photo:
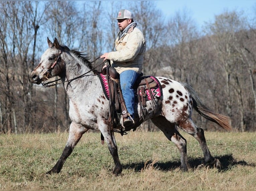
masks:
<svg viewBox="0 0 256 191"><path fill-rule="evenodd" d="M117 144L116 144L116 139L114 135L114 130L113 129L109 130L109 127L106 127L106 126L105 128L99 128L99 129L108 144L109 151L114 160L115 167L113 169L113 174L119 175L122 172L122 165L120 163L118 152L117 152Z"/></svg>

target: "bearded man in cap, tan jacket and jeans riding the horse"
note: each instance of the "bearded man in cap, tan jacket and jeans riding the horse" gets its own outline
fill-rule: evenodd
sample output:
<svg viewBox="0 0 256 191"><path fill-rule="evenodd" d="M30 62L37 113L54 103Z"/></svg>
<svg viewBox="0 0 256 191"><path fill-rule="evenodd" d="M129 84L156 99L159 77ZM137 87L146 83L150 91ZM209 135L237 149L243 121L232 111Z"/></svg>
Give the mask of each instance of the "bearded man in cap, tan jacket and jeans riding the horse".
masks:
<svg viewBox="0 0 256 191"><path fill-rule="evenodd" d="M118 12L118 37L115 40L116 51L104 53L101 58L110 60L111 66L120 74L121 91L130 117L124 119L124 126L134 123L135 95L133 85L142 73L143 55L146 51L146 42L142 32L133 21L133 14L122 9Z"/></svg>

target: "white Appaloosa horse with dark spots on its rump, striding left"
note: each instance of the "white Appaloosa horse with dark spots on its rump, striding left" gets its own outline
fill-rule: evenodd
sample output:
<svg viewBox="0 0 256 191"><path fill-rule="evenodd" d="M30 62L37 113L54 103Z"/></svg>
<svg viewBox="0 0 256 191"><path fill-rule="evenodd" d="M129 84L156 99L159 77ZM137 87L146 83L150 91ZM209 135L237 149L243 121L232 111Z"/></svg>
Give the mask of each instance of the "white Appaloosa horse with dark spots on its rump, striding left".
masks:
<svg viewBox="0 0 256 191"><path fill-rule="evenodd" d="M118 148L114 132L120 129L120 124L112 123L109 117L109 101L96 74L88 55L77 49L69 49L66 45L59 44L54 38L53 43L47 37L48 48L42 54L40 63L29 74L31 83L40 84L52 77L61 79L69 96L69 115L71 124L68 141L56 164L47 174L59 173L66 159L70 156L82 135L89 129L99 130L114 160L112 173L119 175L122 165L118 156ZM226 130L231 130L230 117L208 109L196 92L186 83L180 83L165 77L155 77L161 86L162 95L155 97L154 109L147 101L147 113L143 121L150 119L168 140L172 141L180 152L180 169L188 170L186 139L179 133L178 128L194 136L203 151L207 164L220 167L220 161L214 158L207 146L204 130L196 126L191 119L193 108L205 117ZM141 107L136 104L135 115L138 116Z"/></svg>

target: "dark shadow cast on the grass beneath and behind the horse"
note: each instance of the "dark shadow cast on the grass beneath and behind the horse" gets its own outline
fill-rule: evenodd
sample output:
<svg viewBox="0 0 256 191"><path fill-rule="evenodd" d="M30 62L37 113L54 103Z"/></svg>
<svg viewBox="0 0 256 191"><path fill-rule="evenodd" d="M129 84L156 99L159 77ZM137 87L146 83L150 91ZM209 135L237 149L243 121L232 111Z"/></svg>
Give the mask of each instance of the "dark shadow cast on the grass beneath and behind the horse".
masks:
<svg viewBox="0 0 256 191"><path fill-rule="evenodd" d="M248 164L246 161L236 161L232 154L223 155L223 156L216 156L221 162L221 168L219 168L219 172L225 172L227 170L231 170L232 168L236 167L237 165L242 166L252 166L255 167L254 163ZM205 164L203 158L194 158L188 159L188 167L191 169L201 168L202 166L208 166ZM140 163L131 163L123 165L124 169L134 169L136 172L141 171L142 169L146 169L149 167L153 167L162 171L169 171L180 167L180 162L140 162ZM210 166L211 167L211 166Z"/></svg>

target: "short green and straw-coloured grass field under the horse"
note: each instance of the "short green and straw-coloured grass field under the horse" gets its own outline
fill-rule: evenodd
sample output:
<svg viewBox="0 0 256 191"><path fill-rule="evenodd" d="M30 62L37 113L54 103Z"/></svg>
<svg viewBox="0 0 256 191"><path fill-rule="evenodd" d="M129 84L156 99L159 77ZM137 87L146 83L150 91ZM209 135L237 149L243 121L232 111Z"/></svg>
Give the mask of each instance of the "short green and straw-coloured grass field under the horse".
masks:
<svg viewBox="0 0 256 191"><path fill-rule="evenodd" d="M61 155L68 133L0 135L0 190L255 190L256 133L205 132L221 169L203 165L196 139L187 140L188 172L162 132L116 133L120 176L100 133L86 133L61 172L45 175Z"/></svg>

